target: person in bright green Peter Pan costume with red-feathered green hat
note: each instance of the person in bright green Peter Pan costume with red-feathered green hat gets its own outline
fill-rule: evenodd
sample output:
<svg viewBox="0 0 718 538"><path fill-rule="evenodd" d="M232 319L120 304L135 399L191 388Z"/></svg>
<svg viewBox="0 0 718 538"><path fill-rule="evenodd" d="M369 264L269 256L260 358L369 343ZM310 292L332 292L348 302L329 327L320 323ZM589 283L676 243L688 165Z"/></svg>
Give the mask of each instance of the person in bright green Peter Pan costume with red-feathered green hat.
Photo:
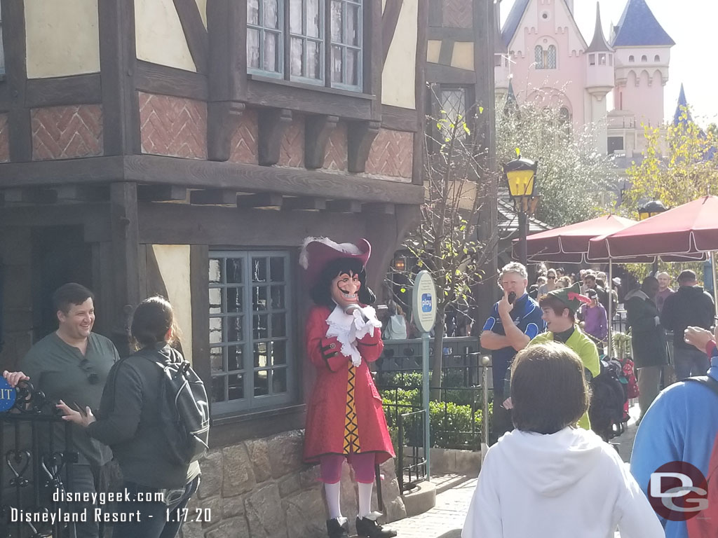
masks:
<svg viewBox="0 0 718 538"><path fill-rule="evenodd" d="M539 298L538 306L541 306L541 311L544 312L543 318L548 330L536 336L528 345L542 344L546 341L558 341L566 344L580 357L584 368L590 372L590 376L587 374L587 380L590 381L600 374L601 363L596 344L579 329L575 319L579 306L586 301L589 299L581 295L579 283L574 283L570 288L549 291L545 296ZM581 417L579 426L586 430L591 429L588 413Z"/></svg>

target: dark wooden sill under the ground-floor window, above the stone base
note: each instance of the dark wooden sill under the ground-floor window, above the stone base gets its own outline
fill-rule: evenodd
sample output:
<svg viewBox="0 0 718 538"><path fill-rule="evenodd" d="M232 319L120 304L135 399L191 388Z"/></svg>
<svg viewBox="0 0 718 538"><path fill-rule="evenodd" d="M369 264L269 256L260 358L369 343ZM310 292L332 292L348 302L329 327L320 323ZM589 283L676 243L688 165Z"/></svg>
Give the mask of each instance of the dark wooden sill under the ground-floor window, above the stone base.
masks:
<svg viewBox="0 0 718 538"><path fill-rule="evenodd" d="M269 437L304 428L306 405L285 405L242 414L226 413L212 418L210 448L236 445L244 440Z"/></svg>

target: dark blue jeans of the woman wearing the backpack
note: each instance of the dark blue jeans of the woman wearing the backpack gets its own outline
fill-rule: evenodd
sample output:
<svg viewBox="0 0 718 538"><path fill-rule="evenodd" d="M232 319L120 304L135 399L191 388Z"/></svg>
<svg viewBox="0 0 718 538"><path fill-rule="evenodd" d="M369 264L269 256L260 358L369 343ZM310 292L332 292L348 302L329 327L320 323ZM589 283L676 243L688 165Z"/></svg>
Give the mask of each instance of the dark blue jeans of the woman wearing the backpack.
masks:
<svg viewBox="0 0 718 538"><path fill-rule="evenodd" d="M131 501L123 503L120 506L124 514L136 514L139 511L139 521L119 522L116 523L112 537L113 538L174 538L179 534L184 517L182 509L187 506L190 497L197 491L200 485L200 477L197 476L193 481L185 486L185 493L172 502L165 504L162 502L135 502ZM126 488L130 496L136 496L138 492L143 494L154 494L159 488L149 488L141 486L134 482L125 482L123 488ZM169 499L167 499L169 500ZM169 510L169 513L167 512ZM169 515L168 515L169 514ZM192 519L194 514L187 516Z"/></svg>

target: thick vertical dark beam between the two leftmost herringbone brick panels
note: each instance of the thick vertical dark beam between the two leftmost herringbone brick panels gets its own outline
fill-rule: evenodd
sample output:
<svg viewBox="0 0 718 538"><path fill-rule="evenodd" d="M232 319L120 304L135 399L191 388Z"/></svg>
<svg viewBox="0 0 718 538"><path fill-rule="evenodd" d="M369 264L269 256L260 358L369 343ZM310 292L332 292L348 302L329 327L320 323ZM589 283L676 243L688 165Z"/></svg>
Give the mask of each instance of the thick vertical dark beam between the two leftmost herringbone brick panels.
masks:
<svg viewBox="0 0 718 538"><path fill-rule="evenodd" d="M141 153L134 2L98 0L105 155Z"/></svg>

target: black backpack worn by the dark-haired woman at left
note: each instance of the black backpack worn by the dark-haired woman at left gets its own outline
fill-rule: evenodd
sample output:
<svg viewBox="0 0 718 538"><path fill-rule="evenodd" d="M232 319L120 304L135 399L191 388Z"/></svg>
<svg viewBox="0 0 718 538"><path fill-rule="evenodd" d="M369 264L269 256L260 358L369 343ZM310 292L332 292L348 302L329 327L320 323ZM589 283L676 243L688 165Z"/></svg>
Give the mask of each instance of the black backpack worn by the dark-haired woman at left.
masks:
<svg viewBox="0 0 718 538"><path fill-rule="evenodd" d="M205 384L185 359L159 362L143 356L162 369L159 419L167 438L167 455L176 465L189 465L208 450L210 405Z"/></svg>

